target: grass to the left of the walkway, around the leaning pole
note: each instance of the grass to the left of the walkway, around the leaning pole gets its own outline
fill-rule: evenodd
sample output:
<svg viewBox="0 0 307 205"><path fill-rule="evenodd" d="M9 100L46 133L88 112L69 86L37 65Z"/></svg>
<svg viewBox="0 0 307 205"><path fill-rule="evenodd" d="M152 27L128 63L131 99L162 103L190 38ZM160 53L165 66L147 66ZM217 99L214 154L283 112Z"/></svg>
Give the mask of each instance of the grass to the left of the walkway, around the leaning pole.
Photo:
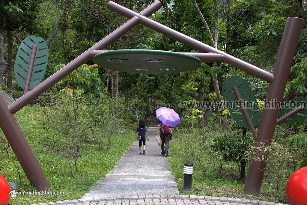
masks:
<svg viewBox="0 0 307 205"><path fill-rule="evenodd" d="M51 191L64 191L64 195L18 195L12 198L11 204L34 204L34 203L48 203L55 201L62 201L68 199L78 199L91 186L95 185L96 181L104 177L107 172L113 168L114 164L122 156L123 153L135 141L134 127L123 128L124 135L117 132L112 137L111 145L107 145L107 139L104 148L99 149L99 145L91 144L91 136L86 139L81 154L78 158L78 172L74 171L74 178L71 177L69 171L68 160L58 155L52 146L62 140L62 136L50 127L49 143L53 145L48 146L42 152L41 149L46 143L46 135L41 126L41 121L45 118L44 112L47 108L26 106L15 114L15 117L21 126L37 160L41 164L49 183L51 184ZM0 130L0 136L3 139L3 133ZM5 138L4 138L5 139ZM0 150L2 151L2 150ZM11 151L12 153L12 151ZM14 164L8 159L5 152L0 152L0 174L6 178L8 182L19 183L18 175ZM15 162L17 161L14 153L10 155ZM16 191L35 191L29 184L22 168L19 166L21 172L22 182Z"/></svg>

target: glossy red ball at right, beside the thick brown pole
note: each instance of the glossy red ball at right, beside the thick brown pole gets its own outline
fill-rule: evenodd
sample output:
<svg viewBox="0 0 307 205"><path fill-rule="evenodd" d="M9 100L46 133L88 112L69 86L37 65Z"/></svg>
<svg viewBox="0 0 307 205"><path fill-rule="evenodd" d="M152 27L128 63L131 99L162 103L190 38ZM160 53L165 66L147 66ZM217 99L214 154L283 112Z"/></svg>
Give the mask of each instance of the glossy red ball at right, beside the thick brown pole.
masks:
<svg viewBox="0 0 307 205"><path fill-rule="evenodd" d="M296 170L290 176L286 196L289 204L307 205L307 167Z"/></svg>

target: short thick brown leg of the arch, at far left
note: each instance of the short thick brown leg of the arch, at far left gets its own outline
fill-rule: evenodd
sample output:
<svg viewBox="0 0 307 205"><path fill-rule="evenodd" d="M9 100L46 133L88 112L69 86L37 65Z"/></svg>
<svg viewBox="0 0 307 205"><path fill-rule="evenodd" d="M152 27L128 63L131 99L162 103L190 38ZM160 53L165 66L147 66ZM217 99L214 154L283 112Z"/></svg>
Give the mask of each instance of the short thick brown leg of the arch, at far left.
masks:
<svg viewBox="0 0 307 205"><path fill-rule="evenodd" d="M50 184L14 115L9 112L2 93L0 93L0 127L31 185L40 190L50 189Z"/></svg>

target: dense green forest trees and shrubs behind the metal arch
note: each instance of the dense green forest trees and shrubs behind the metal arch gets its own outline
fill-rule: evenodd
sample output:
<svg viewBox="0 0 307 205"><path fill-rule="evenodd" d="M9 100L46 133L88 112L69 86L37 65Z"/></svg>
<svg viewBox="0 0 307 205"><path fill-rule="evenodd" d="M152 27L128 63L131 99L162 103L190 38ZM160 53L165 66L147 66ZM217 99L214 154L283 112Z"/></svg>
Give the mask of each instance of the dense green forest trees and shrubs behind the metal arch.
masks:
<svg viewBox="0 0 307 205"><path fill-rule="evenodd" d="M23 88L17 85L12 68L17 49L25 37L40 36L47 42L49 60L44 76L44 79L47 79L127 21L125 17L108 10L106 0L0 2L0 87L14 98L20 97L23 91ZM136 12L153 3L152 0L115 2ZM307 20L305 0L162 0L161 3L163 7L151 15L150 19L269 72L272 72L275 64L287 17ZM284 100L307 95L306 45L307 26L304 23ZM127 32L106 49L197 52L142 25ZM116 130L117 127L135 124L139 119L145 118L148 125L156 125L155 110L161 106L171 107L181 116L179 129L197 129L197 132L210 134L212 131L219 131L216 136L207 139L210 143L206 144L204 140L203 144L195 146L205 148L206 156L209 154L216 157L216 153L221 153L221 161L240 163L239 176L243 180L247 161L251 160L248 158L248 150L252 149L253 144L249 130L239 128L229 116L226 107L204 109L181 106L182 101L223 101L223 81L233 75L245 79L257 101L263 102L269 83L225 63L206 62L194 71L174 74L136 74L112 71L89 60L46 91L51 93L52 97L41 96L32 103L61 110L59 119L69 126L61 125L60 122L56 122L55 126L63 133L70 128L75 137L68 136L67 141L72 144L67 146L77 149L81 149L85 136L91 136L92 142L100 143L101 148L104 146L103 139L107 138L111 143L112 132L109 130L106 134L105 130L101 130L106 124L114 125L110 129ZM60 104L63 104L63 107L60 107ZM107 112L103 112L104 109ZM88 116L87 112L92 115ZM79 118L79 115L84 118ZM274 146L268 149L268 152L280 147L287 148L287 152L269 156L272 159L289 156L292 146L305 150L305 125L306 121L278 127L277 129L284 130L284 135L274 138ZM228 147L225 141L229 144ZM210 148L216 150L215 155L209 151ZM73 177L73 166L75 171L78 170L79 150L69 153L61 150L59 153L69 158ZM189 154L185 153L185 156ZM208 161L201 156L202 153L197 151L192 160L203 170L204 177L207 171L207 165L204 163L211 163L210 159L213 158ZM278 170L281 173L285 170L285 173L294 171L291 169L292 162L297 162L296 165L300 166L306 165L304 154L297 154L296 157L288 157L289 160L283 161L280 166L268 166L268 169L272 168L269 174L278 167L282 167L282 170ZM285 177L287 176L289 175ZM276 185L278 186L279 184ZM278 201L282 201L280 190L276 189L276 194Z"/></svg>

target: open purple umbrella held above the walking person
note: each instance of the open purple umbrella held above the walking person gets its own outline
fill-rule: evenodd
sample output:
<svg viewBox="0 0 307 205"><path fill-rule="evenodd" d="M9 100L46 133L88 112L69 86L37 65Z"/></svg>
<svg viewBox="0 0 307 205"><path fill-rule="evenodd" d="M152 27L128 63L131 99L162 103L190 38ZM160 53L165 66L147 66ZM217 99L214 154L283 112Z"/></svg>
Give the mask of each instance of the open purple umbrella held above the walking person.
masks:
<svg viewBox="0 0 307 205"><path fill-rule="evenodd" d="M158 120L164 125L176 127L181 123L179 115L173 109L161 107L156 110L156 113Z"/></svg>

